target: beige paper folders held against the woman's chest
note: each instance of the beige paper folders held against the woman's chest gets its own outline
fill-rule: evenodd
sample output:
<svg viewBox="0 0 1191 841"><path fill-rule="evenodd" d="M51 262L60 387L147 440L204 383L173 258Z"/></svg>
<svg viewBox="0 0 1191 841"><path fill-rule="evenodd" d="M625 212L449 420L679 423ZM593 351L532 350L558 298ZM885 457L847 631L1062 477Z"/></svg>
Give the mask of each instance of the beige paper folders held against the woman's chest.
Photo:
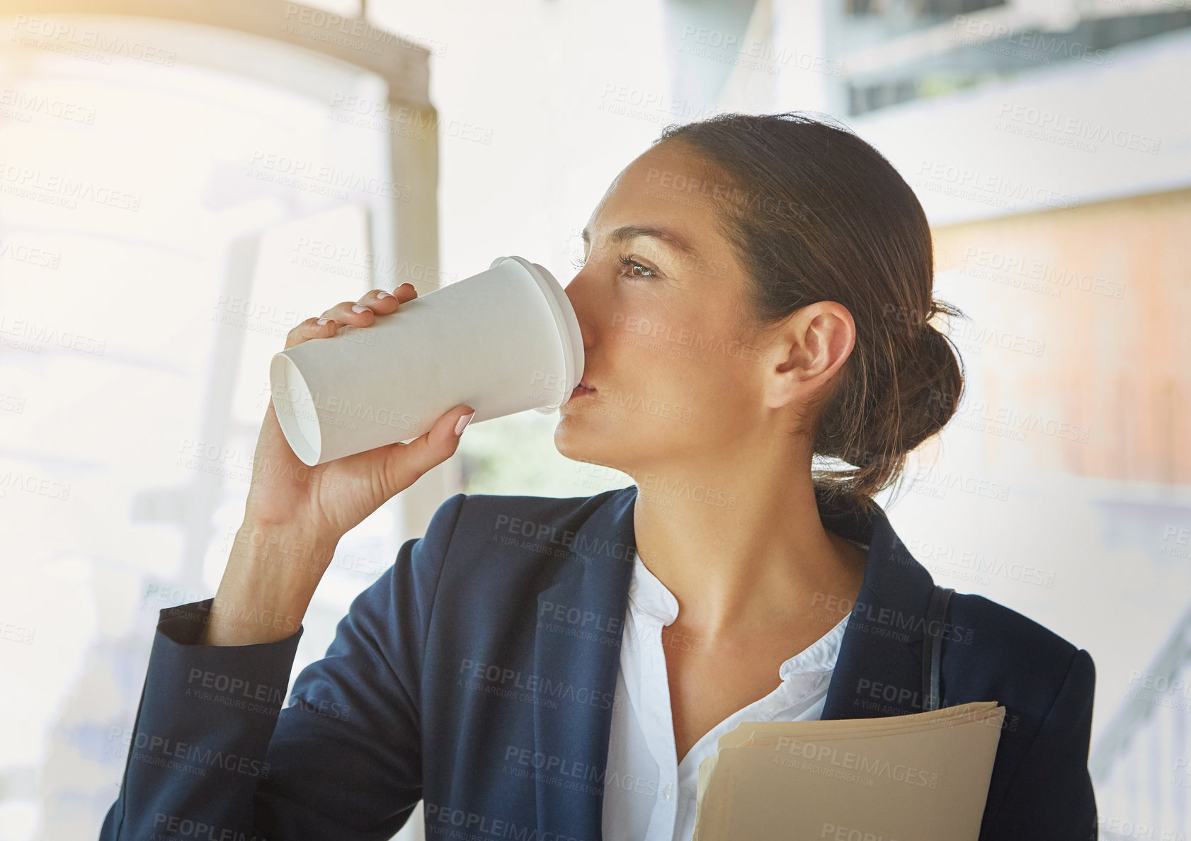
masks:
<svg viewBox="0 0 1191 841"><path fill-rule="evenodd" d="M744 722L699 765L694 841L977 841L1005 708Z"/></svg>

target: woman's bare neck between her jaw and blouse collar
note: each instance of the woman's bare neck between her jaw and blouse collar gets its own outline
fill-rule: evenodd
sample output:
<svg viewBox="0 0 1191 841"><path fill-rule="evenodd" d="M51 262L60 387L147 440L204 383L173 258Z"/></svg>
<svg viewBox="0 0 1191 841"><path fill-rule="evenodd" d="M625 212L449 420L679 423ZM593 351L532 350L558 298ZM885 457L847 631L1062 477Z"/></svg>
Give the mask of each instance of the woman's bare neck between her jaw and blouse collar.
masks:
<svg viewBox="0 0 1191 841"><path fill-rule="evenodd" d="M823 527L810 460L699 467L634 475L637 553L678 600L675 624L716 638L842 619L865 553Z"/></svg>

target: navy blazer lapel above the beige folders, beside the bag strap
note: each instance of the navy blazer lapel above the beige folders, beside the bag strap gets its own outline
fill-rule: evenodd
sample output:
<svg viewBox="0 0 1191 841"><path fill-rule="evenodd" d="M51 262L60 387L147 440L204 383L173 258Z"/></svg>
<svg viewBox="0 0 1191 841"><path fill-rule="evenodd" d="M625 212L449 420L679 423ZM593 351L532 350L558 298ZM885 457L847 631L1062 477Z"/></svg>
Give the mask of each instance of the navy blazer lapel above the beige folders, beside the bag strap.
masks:
<svg viewBox="0 0 1191 841"><path fill-rule="evenodd" d="M831 531L868 544L865 580L848 616L822 718L922 712L922 647L934 579L880 507L862 513L828 505L819 496L819 516Z"/></svg>

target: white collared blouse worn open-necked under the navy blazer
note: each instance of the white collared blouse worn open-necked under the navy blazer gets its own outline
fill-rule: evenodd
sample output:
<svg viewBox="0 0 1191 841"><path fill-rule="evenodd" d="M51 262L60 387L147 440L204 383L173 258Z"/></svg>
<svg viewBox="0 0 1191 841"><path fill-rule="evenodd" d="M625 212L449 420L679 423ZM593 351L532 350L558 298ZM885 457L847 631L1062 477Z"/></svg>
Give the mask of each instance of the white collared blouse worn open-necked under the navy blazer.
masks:
<svg viewBox="0 0 1191 841"><path fill-rule="evenodd" d="M818 719L848 623L844 616L781 664L780 686L719 722L679 762L661 642L662 625L676 617L678 599L635 555L604 780L607 841L691 841L699 762L741 722ZM671 641L686 644L681 637Z"/></svg>

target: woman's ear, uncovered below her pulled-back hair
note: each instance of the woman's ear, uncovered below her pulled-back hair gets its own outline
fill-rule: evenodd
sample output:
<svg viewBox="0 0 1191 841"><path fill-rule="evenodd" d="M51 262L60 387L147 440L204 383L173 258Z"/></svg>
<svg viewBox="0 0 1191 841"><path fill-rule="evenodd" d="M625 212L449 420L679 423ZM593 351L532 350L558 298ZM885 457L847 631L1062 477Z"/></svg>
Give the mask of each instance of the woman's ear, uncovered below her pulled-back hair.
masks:
<svg viewBox="0 0 1191 841"><path fill-rule="evenodd" d="M805 403L828 387L856 343L856 323L837 301L816 301L791 313L773 330L767 359L765 405Z"/></svg>

